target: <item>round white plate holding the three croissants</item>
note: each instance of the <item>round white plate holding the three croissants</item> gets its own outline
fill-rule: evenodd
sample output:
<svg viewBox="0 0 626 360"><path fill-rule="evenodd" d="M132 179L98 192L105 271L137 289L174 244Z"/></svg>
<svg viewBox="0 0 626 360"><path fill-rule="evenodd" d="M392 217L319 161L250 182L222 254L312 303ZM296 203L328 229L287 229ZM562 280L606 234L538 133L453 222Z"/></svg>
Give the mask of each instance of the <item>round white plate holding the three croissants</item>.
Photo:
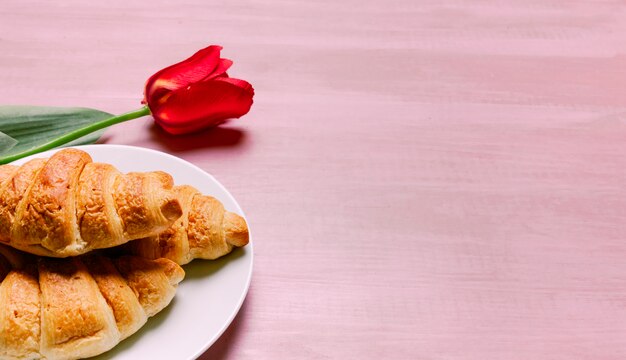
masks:
<svg viewBox="0 0 626 360"><path fill-rule="evenodd" d="M162 170L176 184L188 184L219 199L227 210L244 216L232 195L199 167L159 151L123 145L86 145L95 162L106 162L122 172ZM51 150L15 161L49 157ZM245 216L244 216L245 218ZM95 359L195 359L226 330L241 308L252 277L250 243L214 261L194 260L185 265L185 279L172 303L150 318L137 333Z"/></svg>

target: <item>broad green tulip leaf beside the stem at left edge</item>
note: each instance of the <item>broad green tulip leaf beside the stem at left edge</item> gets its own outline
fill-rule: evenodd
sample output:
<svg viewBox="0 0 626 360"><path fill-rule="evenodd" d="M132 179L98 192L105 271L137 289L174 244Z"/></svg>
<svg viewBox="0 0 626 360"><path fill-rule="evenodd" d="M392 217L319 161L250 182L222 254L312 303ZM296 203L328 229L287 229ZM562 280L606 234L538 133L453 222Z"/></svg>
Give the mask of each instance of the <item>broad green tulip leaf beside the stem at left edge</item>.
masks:
<svg viewBox="0 0 626 360"><path fill-rule="evenodd" d="M112 116L87 108L0 106L0 162ZM103 132L104 129L92 132L63 146L94 143Z"/></svg>

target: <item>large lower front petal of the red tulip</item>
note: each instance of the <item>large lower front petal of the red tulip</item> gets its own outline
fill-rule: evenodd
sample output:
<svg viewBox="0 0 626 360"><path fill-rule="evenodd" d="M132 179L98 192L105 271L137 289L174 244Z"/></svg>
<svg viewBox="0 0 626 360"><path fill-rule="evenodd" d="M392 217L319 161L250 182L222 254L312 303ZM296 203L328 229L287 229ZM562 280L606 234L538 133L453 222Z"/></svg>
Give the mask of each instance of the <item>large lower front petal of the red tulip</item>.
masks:
<svg viewBox="0 0 626 360"><path fill-rule="evenodd" d="M185 134L247 114L253 96L247 81L220 77L172 92L152 115L167 132Z"/></svg>

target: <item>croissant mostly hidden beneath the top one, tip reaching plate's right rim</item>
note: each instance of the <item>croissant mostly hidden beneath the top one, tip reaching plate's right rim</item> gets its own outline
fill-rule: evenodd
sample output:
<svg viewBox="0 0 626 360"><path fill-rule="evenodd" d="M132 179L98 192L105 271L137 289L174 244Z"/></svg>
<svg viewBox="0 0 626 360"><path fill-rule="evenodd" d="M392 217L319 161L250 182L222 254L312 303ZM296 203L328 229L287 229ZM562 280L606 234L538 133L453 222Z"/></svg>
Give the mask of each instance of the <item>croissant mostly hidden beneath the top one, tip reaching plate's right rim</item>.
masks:
<svg viewBox="0 0 626 360"><path fill-rule="evenodd" d="M126 251L184 265L196 258L216 259L248 244L246 221L226 211L219 200L189 185L175 186L174 191L183 215L164 232L125 244Z"/></svg>

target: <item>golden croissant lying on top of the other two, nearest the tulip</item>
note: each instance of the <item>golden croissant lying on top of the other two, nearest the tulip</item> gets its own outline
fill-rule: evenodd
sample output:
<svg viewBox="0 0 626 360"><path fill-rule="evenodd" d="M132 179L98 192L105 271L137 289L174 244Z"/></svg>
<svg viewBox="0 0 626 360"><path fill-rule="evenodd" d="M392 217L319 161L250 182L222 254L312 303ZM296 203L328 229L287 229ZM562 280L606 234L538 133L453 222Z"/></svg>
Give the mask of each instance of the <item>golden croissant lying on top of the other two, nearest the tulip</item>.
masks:
<svg viewBox="0 0 626 360"><path fill-rule="evenodd" d="M158 234L182 215L173 179L122 174L78 149L0 166L0 242L67 257Z"/></svg>

